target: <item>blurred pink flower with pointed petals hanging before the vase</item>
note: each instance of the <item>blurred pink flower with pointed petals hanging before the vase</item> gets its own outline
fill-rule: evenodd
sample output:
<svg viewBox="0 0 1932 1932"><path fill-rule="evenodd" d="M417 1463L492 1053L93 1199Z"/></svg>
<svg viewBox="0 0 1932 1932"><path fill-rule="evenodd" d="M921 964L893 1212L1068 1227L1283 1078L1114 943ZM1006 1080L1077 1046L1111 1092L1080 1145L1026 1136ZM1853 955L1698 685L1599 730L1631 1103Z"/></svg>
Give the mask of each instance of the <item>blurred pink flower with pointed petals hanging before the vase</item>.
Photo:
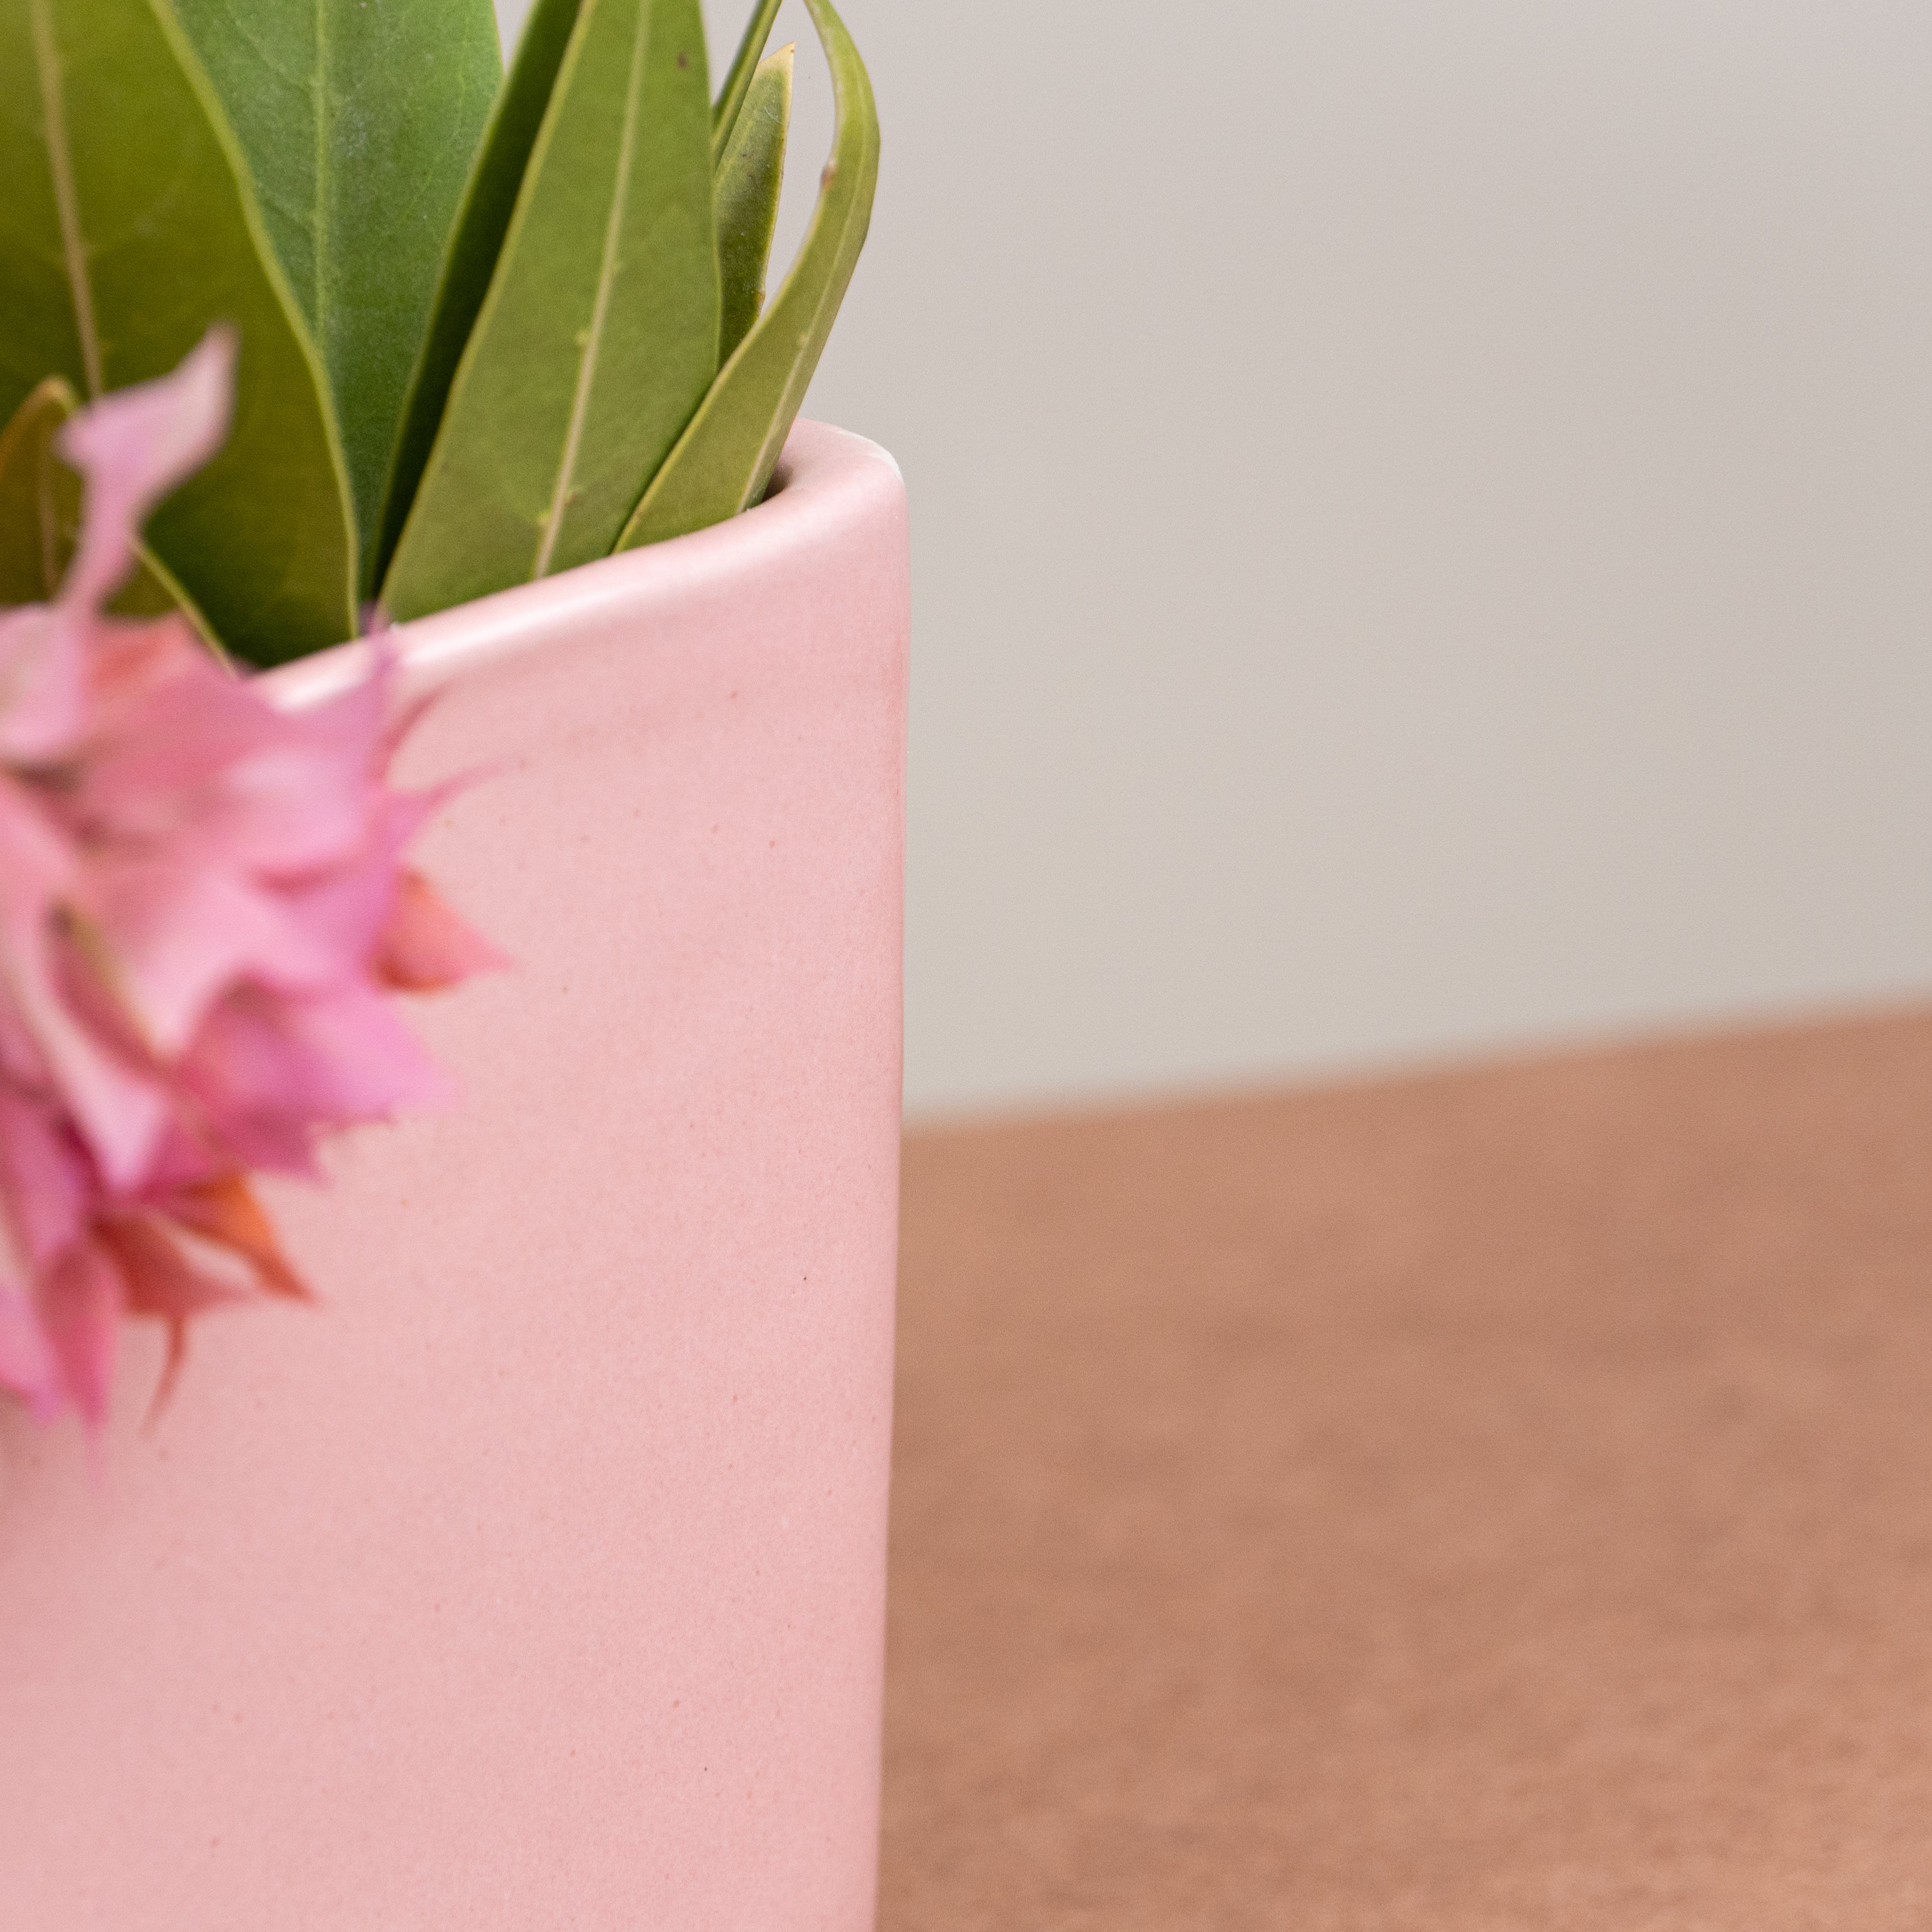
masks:
<svg viewBox="0 0 1932 1932"><path fill-rule="evenodd" d="M249 1192L442 1097L392 991L495 952L404 864L392 667L276 711L180 618L104 614L147 512L220 444L232 342L66 431L87 522L0 612L0 1387L106 1414L124 1316L299 1296Z"/></svg>

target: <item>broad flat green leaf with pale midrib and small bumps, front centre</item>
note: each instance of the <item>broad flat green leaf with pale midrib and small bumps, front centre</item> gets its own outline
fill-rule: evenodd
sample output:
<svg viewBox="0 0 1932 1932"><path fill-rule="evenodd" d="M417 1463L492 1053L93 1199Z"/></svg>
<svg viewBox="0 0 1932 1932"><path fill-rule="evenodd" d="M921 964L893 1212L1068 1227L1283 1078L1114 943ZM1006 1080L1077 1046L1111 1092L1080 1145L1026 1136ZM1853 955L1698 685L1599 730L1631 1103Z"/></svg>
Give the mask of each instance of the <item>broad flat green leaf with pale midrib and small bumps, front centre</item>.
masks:
<svg viewBox="0 0 1932 1932"><path fill-rule="evenodd" d="M583 0L383 587L412 618L609 553L717 373L697 0Z"/></svg>

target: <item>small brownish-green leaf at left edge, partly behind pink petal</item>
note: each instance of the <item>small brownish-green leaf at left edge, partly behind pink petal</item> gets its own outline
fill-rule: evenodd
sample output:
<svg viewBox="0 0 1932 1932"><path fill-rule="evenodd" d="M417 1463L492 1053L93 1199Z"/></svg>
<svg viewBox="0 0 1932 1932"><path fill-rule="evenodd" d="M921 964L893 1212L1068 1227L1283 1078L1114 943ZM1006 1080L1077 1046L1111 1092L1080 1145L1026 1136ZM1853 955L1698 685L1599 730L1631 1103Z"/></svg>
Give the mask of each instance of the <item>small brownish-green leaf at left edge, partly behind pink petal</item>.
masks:
<svg viewBox="0 0 1932 1932"><path fill-rule="evenodd" d="M56 439L79 408L58 375L29 390L0 431L0 605L50 603L73 560L81 527L81 479L60 460ZM116 616L180 612L205 643L207 618L145 543L110 607Z"/></svg>

